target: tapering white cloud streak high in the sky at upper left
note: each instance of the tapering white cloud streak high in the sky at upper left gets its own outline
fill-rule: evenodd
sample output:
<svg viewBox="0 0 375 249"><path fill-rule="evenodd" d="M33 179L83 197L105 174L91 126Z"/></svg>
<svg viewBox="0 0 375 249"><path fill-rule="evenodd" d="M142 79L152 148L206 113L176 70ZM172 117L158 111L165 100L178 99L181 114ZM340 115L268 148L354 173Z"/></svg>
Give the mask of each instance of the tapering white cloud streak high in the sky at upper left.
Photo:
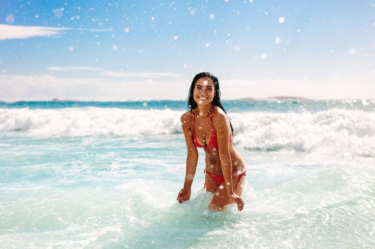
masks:
<svg viewBox="0 0 375 249"><path fill-rule="evenodd" d="M0 24L0 40L26 39L31 37L50 37L59 35L67 30L87 30L90 32L106 32L112 29L79 29L79 28L56 28L43 26L18 26Z"/></svg>

